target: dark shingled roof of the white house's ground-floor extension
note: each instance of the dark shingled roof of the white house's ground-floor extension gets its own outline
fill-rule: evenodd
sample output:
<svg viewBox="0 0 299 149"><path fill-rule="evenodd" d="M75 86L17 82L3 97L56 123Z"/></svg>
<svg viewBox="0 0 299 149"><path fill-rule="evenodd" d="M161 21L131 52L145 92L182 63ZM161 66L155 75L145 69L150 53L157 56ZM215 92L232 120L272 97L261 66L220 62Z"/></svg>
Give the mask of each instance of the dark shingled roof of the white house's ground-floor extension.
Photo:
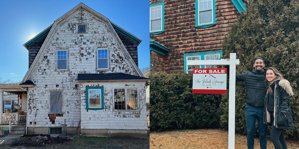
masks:
<svg viewBox="0 0 299 149"><path fill-rule="evenodd" d="M149 80L149 78L128 75L124 73L109 74L78 74L79 82L83 81L109 81L109 80Z"/></svg>

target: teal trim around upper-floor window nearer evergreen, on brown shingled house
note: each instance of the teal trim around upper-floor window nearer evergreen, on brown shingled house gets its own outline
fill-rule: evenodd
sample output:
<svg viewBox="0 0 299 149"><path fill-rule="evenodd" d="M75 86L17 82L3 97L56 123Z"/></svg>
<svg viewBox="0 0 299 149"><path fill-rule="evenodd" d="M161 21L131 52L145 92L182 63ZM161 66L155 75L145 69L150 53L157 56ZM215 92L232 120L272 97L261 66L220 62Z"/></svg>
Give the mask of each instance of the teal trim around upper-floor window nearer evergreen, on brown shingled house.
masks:
<svg viewBox="0 0 299 149"><path fill-rule="evenodd" d="M196 22L196 24L195 24L195 27L210 27L210 26L213 26L213 25L215 25L216 24L216 5L215 5L215 0L212 0L213 2L213 9L212 9L212 19L213 19L213 22L211 22L211 23L206 23L206 24L199 24L199 13L198 13L198 11L199 11L199 4L198 4L198 1L199 0L195 0L195 22Z"/></svg>

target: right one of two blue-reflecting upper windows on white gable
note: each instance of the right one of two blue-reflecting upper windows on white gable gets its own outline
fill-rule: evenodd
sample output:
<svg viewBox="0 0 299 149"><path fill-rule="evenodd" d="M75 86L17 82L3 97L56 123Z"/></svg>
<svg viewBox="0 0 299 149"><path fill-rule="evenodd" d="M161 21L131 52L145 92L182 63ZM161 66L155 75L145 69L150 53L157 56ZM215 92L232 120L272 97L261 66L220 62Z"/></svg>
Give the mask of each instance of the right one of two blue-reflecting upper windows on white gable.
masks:
<svg viewBox="0 0 299 149"><path fill-rule="evenodd" d="M108 49L97 49L97 69L108 69Z"/></svg>

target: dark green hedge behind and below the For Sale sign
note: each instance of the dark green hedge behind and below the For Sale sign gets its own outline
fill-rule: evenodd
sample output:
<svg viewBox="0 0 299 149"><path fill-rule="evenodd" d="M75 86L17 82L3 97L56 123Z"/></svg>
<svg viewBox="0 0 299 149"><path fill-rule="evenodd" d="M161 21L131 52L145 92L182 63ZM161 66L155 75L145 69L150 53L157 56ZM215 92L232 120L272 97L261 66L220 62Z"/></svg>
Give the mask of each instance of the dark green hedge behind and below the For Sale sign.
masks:
<svg viewBox="0 0 299 149"><path fill-rule="evenodd" d="M192 74L150 75L150 130L218 128L221 95L193 94Z"/></svg>

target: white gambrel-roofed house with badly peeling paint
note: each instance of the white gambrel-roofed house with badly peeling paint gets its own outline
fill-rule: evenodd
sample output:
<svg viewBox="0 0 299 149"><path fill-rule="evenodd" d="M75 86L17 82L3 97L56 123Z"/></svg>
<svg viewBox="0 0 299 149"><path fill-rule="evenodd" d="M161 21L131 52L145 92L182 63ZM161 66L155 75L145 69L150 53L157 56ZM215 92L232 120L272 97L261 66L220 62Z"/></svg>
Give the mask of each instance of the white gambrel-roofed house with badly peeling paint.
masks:
<svg viewBox="0 0 299 149"><path fill-rule="evenodd" d="M138 69L140 42L80 3L24 44L29 70L0 92L28 99L27 134L61 134L66 124L82 136L145 139L149 79Z"/></svg>

